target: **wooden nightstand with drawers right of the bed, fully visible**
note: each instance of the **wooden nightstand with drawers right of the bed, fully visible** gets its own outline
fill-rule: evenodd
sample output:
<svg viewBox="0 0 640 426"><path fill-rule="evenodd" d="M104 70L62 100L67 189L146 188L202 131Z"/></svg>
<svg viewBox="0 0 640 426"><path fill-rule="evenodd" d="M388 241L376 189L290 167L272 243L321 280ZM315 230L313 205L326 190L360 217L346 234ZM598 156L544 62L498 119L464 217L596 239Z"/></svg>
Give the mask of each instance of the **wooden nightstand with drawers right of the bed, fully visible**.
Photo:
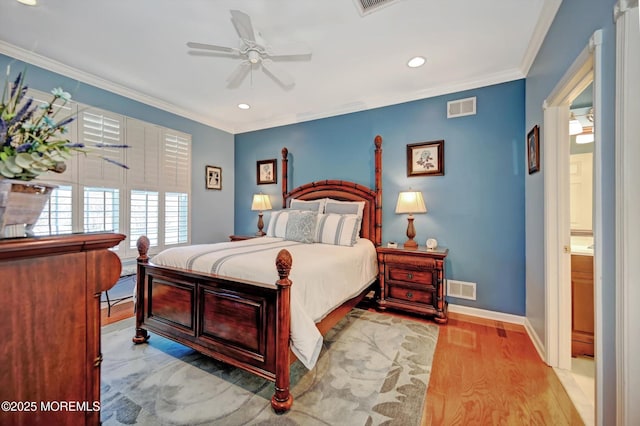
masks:
<svg viewBox="0 0 640 426"><path fill-rule="evenodd" d="M447 322L444 259L447 248L378 247L380 297L378 308L399 309Z"/></svg>

